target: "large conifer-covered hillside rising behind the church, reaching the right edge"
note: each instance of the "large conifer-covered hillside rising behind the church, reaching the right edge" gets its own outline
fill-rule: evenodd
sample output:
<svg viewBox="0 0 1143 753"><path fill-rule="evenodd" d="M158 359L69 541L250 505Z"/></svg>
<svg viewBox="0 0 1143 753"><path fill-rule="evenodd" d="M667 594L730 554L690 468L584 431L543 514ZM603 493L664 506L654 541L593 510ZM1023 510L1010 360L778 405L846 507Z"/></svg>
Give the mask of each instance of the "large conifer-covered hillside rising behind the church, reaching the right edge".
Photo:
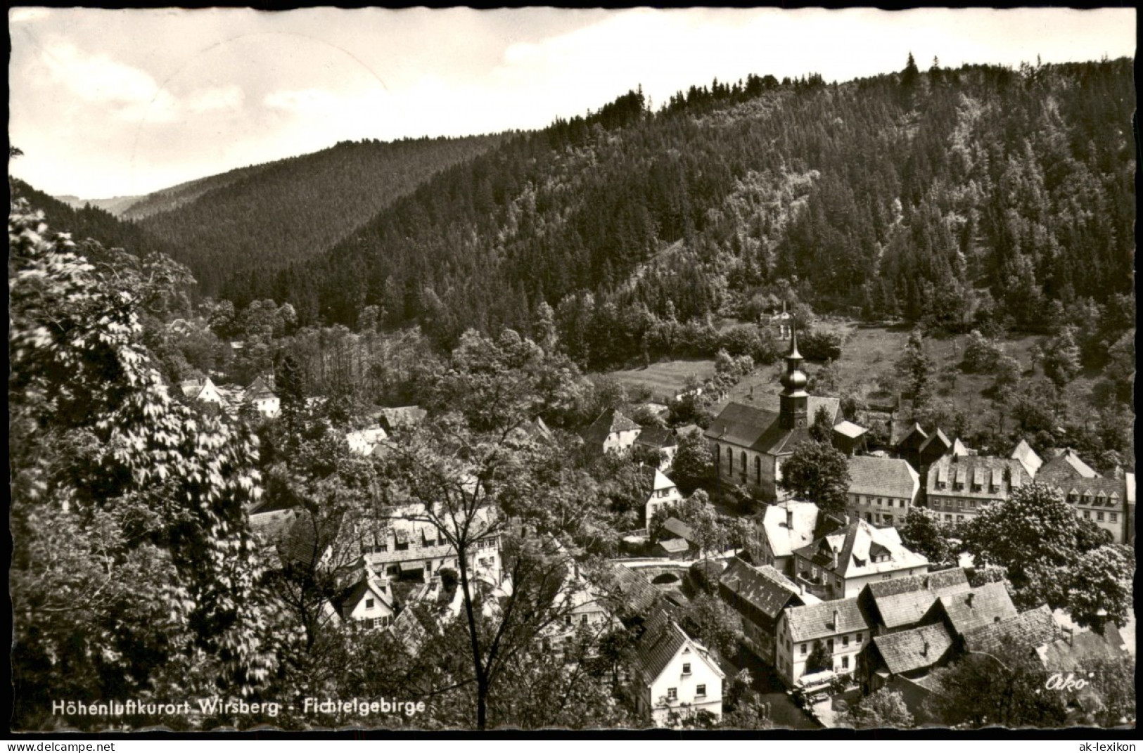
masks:
<svg viewBox="0 0 1143 753"><path fill-rule="evenodd" d="M445 344L530 331L546 302L597 366L576 352L592 328L630 355L657 322L757 315L780 279L820 311L1045 331L1078 298L1133 289L1134 107L1128 59L749 77L655 113L630 93L226 289L303 322L354 326L378 305Z"/></svg>

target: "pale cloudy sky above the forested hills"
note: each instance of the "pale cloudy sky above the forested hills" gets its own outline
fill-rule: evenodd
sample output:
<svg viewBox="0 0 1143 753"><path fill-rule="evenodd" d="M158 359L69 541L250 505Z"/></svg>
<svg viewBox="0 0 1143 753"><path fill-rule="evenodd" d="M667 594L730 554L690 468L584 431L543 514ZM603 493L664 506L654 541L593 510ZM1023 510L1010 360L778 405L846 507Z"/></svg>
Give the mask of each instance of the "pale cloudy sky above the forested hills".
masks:
<svg viewBox="0 0 1143 753"><path fill-rule="evenodd" d="M145 194L333 146L543 128L642 86L1134 56L1135 9L13 8L10 171Z"/></svg>

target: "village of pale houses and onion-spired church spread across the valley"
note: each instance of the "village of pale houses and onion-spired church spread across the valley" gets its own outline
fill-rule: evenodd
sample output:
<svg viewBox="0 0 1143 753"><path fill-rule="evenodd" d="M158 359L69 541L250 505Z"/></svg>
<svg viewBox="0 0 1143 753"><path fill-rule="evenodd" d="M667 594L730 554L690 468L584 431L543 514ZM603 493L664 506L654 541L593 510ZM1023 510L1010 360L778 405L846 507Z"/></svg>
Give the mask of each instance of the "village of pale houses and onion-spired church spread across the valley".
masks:
<svg viewBox="0 0 1143 753"><path fill-rule="evenodd" d="M660 727L694 726L703 714L719 720L741 672L746 674L737 681L752 684L777 723L844 727L852 723L848 708L882 690L900 694L908 714L922 723L926 700L942 690L932 681L934 671L966 656L1000 662L994 654L1001 646L1036 657L1053 678L1071 678L1093 657L1134 656L1134 617L1128 625L1092 630L1047 604L1021 610L1004 578L988 578L972 555L953 552L946 561L929 561L906 546L897 528L918 510L936 523L962 524L1041 484L1065 499L1077 519L1105 531L1109 543L1133 545L1134 473L1101 475L1071 449L1041 458L1023 440L1007 456L980 455L942 428L926 432L916 423L900 428L890 446L873 448L866 428L842 416L837 398L809 394L798 335L784 311L773 319L789 341L777 410L729 400L703 430L641 426L608 409L575 436L585 451L638 462L642 526L623 538L621 556L602 577L597 574L593 582L581 572L558 538L535 527L529 531L519 520L497 520L490 506L477 511L472 522L479 530L464 539L472 542L465 559L486 596L486 614L512 590L503 536L547 538L562 558L563 576L553 595L560 619L544 628L543 650L559 651L577 631L599 636L633 626L634 662L624 681L636 713ZM179 386L186 399L231 417L273 419L280 412L269 375L245 390L209 377ZM689 396L701 390L692 388ZM753 399L751 393L750 403ZM668 408L650 402L638 414ZM384 456L425 416L416 406L378 409L368 425L346 432L344 442L353 455ZM802 442L820 440L823 427L848 466L844 512L823 510L783 484L784 462ZM541 418L519 431L527 440L553 441ZM730 543L725 536L716 544L677 512L688 497L709 498L705 489L685 495L671 479L679 447L688 441L709 448L709 492L725 500L730 488L749 500L732 511L745 535L729 548L720 548ZM465 482L470 490L475 484ZM458 539L456 531L442 530L442 515L432 510L413 505L391 513L379 535L359 532L349 554L302 508L259 503L248 514L251 529L283 562L338 571L339 595L321 604L329 625L385 631L415 654L431 632L461 616ZM687 604L704 592L741 620L735 655L711 650L684 627ZM432 608L414 609L418 604ZM752 680L744 667L754 668ZM1076 719L1084 718L1084 694L1070 700Z"/></svg>

